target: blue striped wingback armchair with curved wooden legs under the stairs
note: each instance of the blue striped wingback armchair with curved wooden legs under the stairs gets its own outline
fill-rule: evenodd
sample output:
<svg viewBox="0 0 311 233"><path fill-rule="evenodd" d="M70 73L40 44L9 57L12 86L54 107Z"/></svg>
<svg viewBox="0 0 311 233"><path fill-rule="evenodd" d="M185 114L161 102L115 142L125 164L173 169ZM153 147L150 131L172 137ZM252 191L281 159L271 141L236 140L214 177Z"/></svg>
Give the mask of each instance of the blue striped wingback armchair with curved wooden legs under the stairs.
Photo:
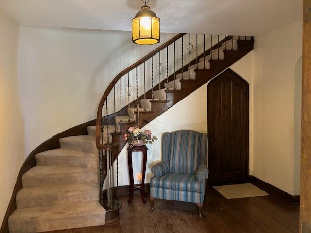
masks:
<svg viewBox="0 0 311 233"><path fill-rule="evenodd" d="M202 220L207 169L207 134L192 130L166 132L162 136L163 161L151 168L151 209L155 199L196 203Z"/></svg>

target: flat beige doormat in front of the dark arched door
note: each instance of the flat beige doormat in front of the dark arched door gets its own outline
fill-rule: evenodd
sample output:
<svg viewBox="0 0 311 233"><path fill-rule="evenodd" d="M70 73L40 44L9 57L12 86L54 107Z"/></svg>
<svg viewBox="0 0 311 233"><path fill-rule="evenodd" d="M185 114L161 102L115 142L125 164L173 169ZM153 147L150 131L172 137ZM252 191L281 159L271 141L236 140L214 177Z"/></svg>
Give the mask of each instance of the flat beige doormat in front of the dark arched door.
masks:
<svg viewBox="0 0 311 233"><path fill-rule="evenodd" d="M248 198L257 196L267 196L269 193L261 190L251 183L230 184L223 186L214 186L221 195L226 199L232 198Z"/></svg>

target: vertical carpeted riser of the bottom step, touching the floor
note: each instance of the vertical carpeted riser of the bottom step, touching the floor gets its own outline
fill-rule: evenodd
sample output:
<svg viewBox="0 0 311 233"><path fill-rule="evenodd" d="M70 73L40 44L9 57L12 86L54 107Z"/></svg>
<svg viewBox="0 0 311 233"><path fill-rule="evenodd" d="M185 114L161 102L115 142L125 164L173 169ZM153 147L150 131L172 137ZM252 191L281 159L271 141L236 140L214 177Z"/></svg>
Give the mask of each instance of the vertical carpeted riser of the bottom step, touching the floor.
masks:
<svg viewBox="0 0 311 233"><path fill-rule="evenodd" d="M20 221L19 219L9 219L10 233L35 233L54 231L62 229L72 229L80 227L100 226L105 223L105 210L101 214L88 214L81 216L70 216L66 218L40 219L32 221Z"/></svg>

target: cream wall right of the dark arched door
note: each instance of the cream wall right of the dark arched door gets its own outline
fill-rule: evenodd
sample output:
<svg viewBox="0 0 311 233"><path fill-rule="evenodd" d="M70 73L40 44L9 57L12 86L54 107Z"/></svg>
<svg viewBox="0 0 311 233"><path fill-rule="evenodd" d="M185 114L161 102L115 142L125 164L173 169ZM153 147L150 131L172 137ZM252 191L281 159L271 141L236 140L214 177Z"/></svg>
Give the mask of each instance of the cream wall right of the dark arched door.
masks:
<svg viewBox="0 0 311 233"><path fill-rule="evenodd" d="M294 131L299 137L301 107L297 102L295 106L295 91L298 101L301 87L295 84L301 84L295 83L295 73L301 75L301 67L296 70L301 55L302 21L255 37L253 175L292 195L299 194L299 166L294 161L300 161L300 153L294 153Z"/></svg>

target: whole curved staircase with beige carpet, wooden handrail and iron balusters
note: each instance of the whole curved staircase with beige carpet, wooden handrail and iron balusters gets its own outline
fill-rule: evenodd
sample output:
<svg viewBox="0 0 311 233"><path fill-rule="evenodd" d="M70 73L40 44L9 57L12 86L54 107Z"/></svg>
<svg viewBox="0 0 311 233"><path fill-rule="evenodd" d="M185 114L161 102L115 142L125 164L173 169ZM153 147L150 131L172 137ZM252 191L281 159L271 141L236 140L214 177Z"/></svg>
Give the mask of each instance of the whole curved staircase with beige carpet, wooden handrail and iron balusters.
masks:
<svg viewBox="0 0 311 233"><path fill-rule="evenodd" d="M126 144L127 129L134 124L143 127L164 113L253 50L254 44L252 37L245 36L216 36L216 42L210 36L208 41L206 49L205 35L199 45L198 35L191 40L189 34L178 34L118 74L104 92L96 125L87 127L87 135L63 137L60 148L36 154L36 166L22 176L17 207L8 220L10 233L104 225L99 187L113 174L109 167ZM195 44L192 54L186 52L184 42ZM160 69L161 61L166 64L159 74L154 63ZM112 155L108 169L107 154Z"/></svg>

